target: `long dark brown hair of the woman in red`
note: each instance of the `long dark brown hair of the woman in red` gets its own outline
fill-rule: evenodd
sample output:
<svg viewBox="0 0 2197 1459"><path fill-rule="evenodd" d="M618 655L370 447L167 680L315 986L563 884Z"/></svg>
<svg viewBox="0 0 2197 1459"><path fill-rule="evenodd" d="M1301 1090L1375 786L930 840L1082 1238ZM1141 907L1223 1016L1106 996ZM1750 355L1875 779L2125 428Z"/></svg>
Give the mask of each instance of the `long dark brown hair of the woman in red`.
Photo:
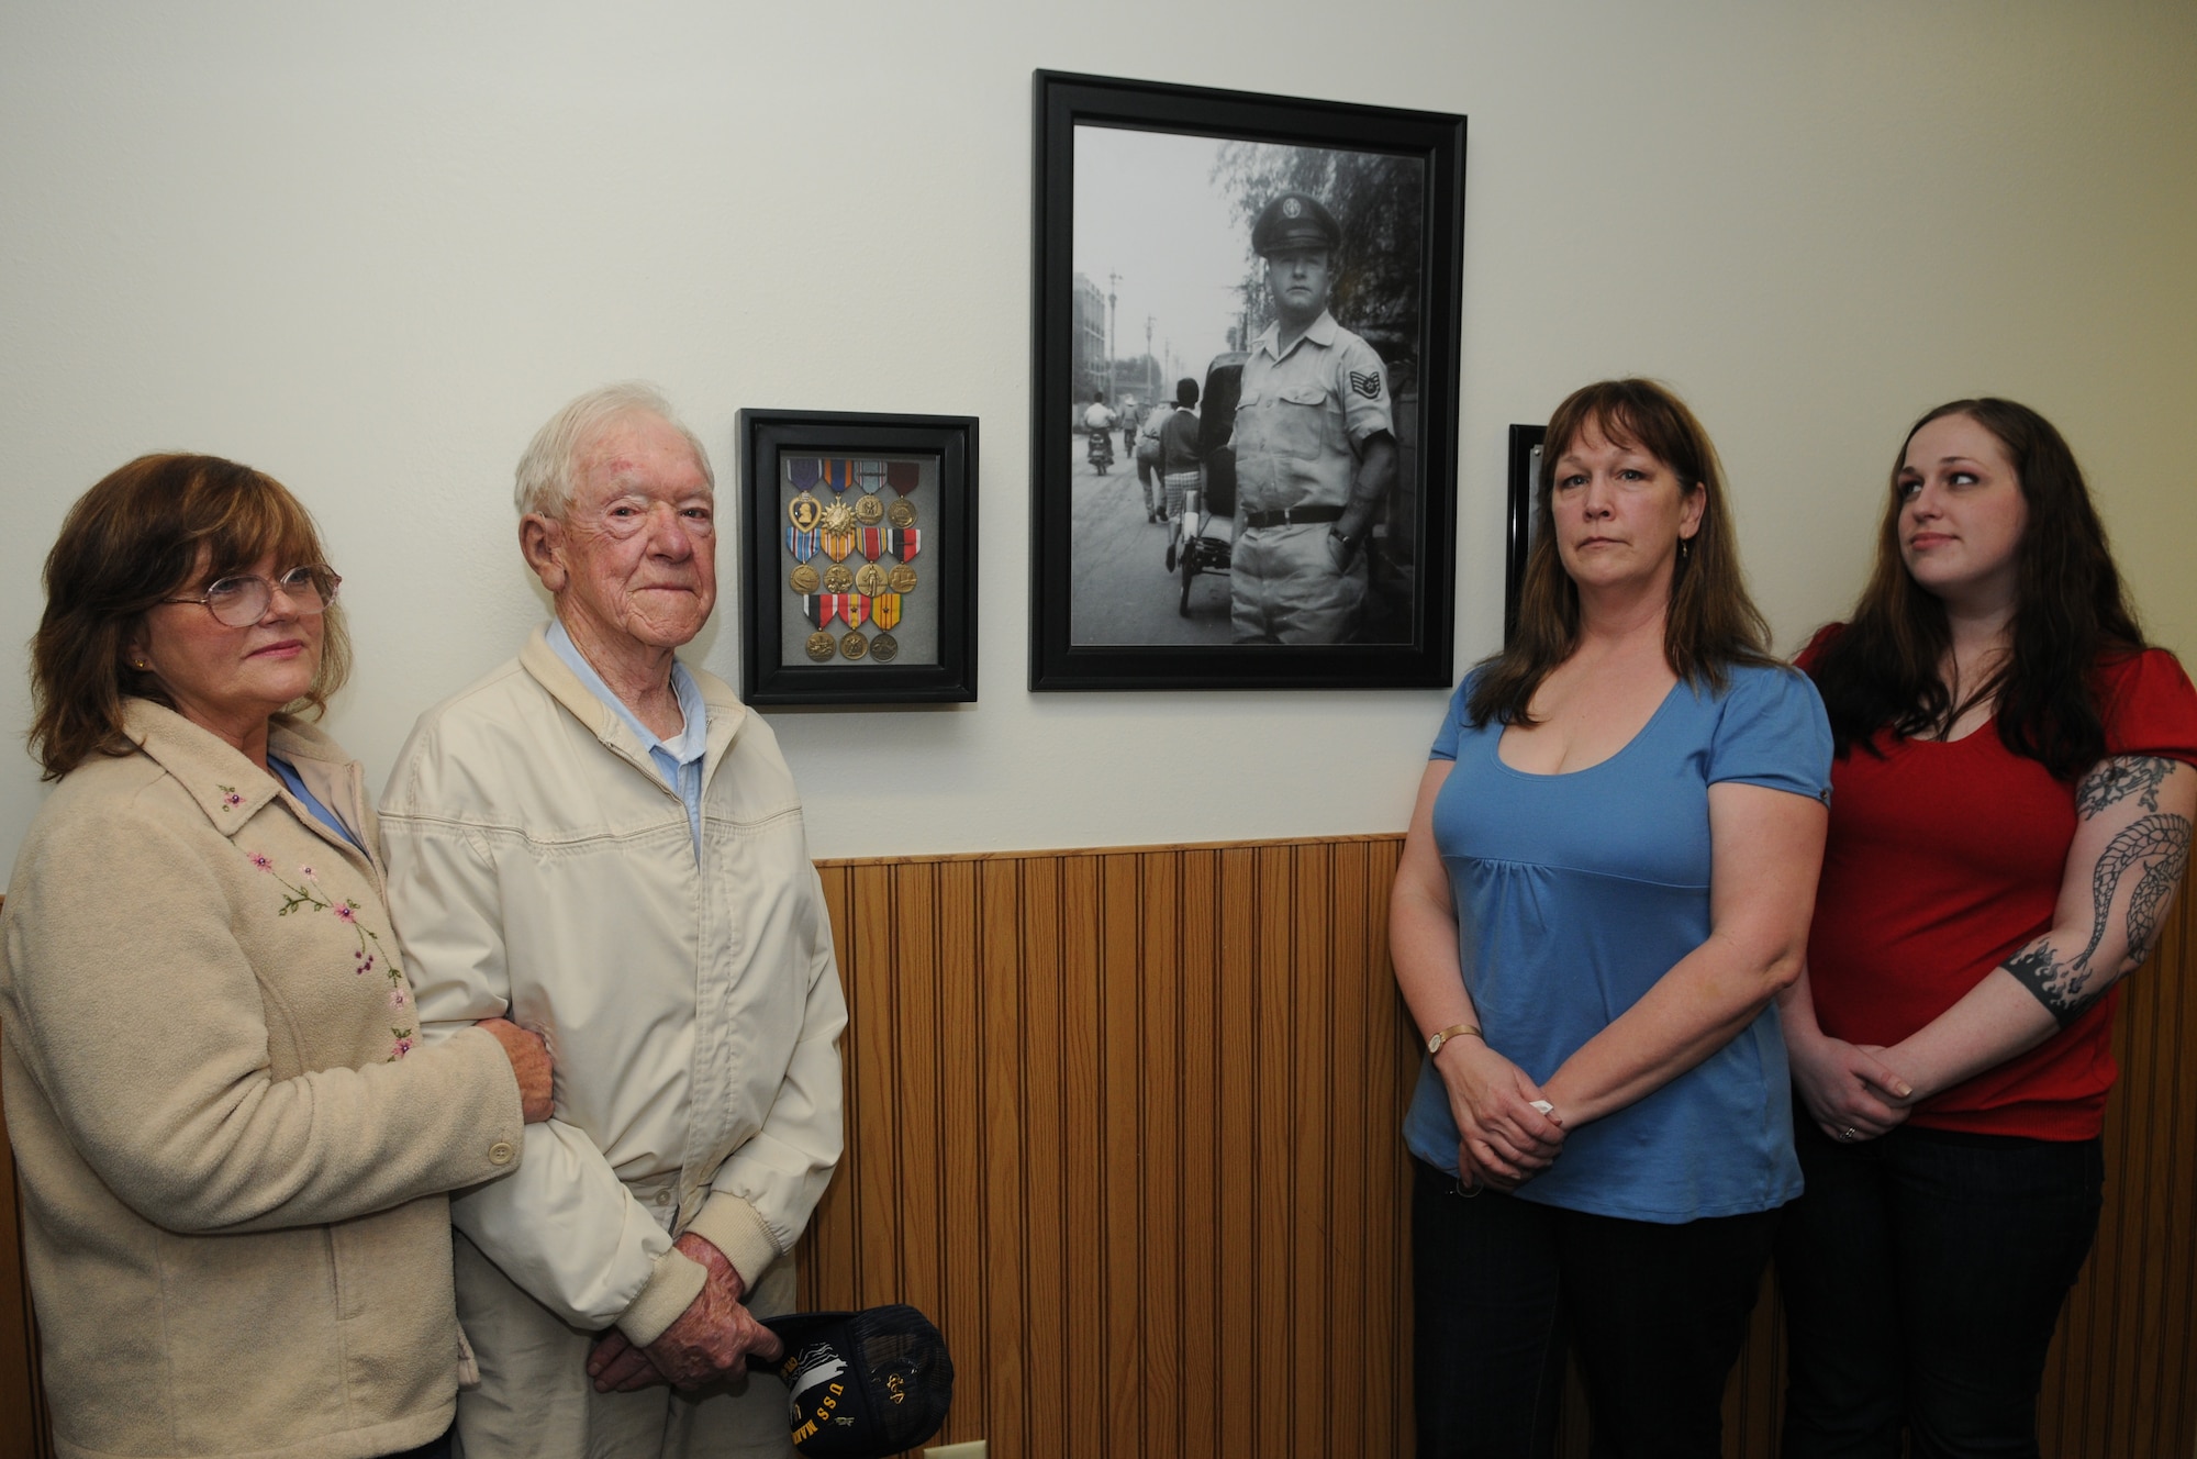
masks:
<svg viewBox="0 0 2197 1459"><path fill-rule="evenodd" d="M1938 666L1953 646L1944 602L1922 589L1900 558L1900 470L1916 431L1966 415L2006 448L2028 521L2015 547L2012 653L1964 703L1953 703ZM1837 754L1878 730L1942 734L1969 705L1995 699L1999 743L2074 780L2105 758L2094 675L2098 661L2140 653L2129 593L2089 501L2083 468L2052 422L2012 400L1953 400L1918 420L1892 459L1892 492L1876 530L1876 567L1845 631L1815 666Z"/></svg>

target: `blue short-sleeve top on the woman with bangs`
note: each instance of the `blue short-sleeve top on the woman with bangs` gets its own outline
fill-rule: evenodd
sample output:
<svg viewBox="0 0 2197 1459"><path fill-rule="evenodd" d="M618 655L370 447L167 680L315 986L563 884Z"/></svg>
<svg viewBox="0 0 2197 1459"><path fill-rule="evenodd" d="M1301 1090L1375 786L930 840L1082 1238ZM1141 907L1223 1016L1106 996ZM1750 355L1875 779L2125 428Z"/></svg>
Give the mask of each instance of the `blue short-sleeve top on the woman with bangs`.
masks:
<svg viewBox="0 0 2197 1459"><path fill-rule="evenodd" d="M1736 666L1718 694L1672 686L1615 756L1562 776L1496 756L1501 723L1450 699L1432 758L1435 850L1457 903L1465 991L1487 1044L1536 1083L1709 936L1709 787L1830 795L1830 723L1799 672ZM1428 1061L1410 1151L1457 1173L1457 1123ZM1523 1200L1639 1222L1771 1211L1799 1195L1775 1004L1646 1099L1564 1138Z"/></svg>

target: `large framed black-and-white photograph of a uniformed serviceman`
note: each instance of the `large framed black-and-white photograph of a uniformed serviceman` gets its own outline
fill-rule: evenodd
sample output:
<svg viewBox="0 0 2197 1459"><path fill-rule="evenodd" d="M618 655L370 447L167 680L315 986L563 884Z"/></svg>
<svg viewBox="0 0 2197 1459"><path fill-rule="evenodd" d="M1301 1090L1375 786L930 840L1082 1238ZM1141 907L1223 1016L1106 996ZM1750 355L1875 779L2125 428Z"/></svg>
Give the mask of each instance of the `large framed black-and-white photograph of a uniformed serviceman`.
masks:
<svg viewBox="0 0 2197 1459"><path fill-rule="evenodd" d="M1037 73L1030 688L1448 686L1465 119Z"/></svg>

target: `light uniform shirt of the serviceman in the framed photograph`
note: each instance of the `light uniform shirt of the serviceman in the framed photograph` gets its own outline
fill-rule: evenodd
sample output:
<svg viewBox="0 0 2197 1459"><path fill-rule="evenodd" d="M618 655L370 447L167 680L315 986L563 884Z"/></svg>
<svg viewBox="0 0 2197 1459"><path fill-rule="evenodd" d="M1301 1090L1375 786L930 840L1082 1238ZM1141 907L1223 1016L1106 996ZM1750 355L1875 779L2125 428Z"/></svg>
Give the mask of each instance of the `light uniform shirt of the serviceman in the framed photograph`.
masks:
<svg viewBox="0 0 2197 1459"><path fill-rule="evenodd" d="M1268 325L1244 360L1237 398L1237 510L1340 508L1351 497L1358 448L1389 415L1389 371L1373 345L1320 310L1285 354Z"/></svg>

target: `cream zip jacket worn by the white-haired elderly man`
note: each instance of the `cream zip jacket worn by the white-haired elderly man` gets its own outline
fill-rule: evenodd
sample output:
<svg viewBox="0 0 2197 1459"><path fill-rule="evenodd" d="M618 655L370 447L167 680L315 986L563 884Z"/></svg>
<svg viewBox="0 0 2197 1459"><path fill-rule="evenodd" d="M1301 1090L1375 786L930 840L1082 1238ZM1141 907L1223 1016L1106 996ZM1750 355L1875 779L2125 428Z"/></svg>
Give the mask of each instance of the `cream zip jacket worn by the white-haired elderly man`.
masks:
<svg viewBox="0 0 2197 1459"><path fill-rule="evenodd" d="M450 1219L567 1323L644 1345L701 1292L674 1235L754 1285L839 1162L846 1004L793 776L694 681L699 864L679 793L540 631L420 716L382 798L428 1039L508 1013L556 1061L523 1169Z"/></svg>

